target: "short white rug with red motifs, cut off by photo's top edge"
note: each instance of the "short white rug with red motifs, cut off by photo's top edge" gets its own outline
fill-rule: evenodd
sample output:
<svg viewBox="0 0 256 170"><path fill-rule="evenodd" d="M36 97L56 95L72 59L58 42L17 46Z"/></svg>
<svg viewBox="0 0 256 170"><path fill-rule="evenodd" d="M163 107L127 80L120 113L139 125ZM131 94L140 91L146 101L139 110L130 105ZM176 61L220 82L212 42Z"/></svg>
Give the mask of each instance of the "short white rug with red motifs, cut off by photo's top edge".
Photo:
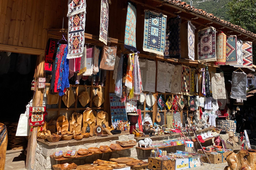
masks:
<svg viewBox="0 0 256 170"><path fill-rule="evenodd" d="M67 17L79 14L81 12L86 13L85 0L68 0L68 15L67 15Z"/></svg>

